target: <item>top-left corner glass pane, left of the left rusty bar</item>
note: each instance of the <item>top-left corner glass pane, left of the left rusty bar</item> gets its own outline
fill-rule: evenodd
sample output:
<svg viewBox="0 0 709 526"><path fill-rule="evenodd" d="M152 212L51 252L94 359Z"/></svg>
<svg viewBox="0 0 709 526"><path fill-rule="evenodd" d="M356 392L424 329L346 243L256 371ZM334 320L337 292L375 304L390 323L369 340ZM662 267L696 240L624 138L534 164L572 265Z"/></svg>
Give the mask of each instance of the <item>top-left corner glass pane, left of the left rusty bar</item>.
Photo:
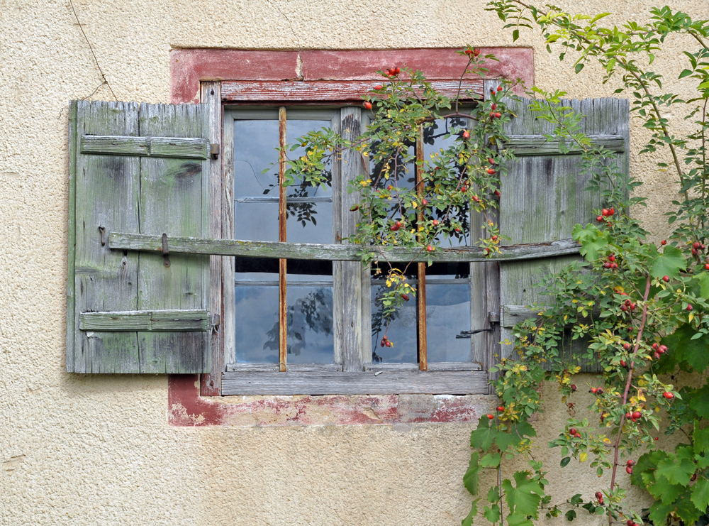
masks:
<svg viewBox="0 0 709 526"><path fill-rule="evenodd" d="M278 121L234 121L234 197L263 196L277 185Z"/></svg>

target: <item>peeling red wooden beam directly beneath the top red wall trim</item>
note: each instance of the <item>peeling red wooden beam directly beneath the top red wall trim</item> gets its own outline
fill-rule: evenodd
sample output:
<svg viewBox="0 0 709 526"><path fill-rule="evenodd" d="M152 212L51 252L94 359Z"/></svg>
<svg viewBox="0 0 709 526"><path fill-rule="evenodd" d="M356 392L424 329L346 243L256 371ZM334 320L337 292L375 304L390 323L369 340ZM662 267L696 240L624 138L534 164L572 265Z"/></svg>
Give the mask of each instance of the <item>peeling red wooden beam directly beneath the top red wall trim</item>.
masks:
<svg viewBox="0 0 709 526"><path fill-rule="evenodd" d="M228 102L362 102L362 97L383 80L325 81L230 81L222 82L222 98ZM455 97L458 80L432 80L432 86L446 97ZM467 99L480 99L483 83L465 79L462 93ZM465 96L464 96L465 98Z"/></svg>

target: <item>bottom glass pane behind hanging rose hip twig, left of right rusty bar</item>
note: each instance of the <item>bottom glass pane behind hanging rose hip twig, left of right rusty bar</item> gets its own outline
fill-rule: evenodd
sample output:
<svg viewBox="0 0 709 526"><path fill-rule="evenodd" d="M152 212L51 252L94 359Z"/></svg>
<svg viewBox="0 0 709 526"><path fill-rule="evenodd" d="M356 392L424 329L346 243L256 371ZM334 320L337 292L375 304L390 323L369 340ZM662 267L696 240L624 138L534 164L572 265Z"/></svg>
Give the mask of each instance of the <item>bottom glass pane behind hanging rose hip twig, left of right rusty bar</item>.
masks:
<svg viewBox="0 0 709 526"><path fill-rule="evenodd" d="M379 280L376 280L379 282ZM382 305L379 298L386 292L384 281L372 285L372 363L417 363L418 362L418 307L415 297L411 297L393 315L386 331L382 319ZM381 339L391 341L391 347L382 346Z"/></svg>

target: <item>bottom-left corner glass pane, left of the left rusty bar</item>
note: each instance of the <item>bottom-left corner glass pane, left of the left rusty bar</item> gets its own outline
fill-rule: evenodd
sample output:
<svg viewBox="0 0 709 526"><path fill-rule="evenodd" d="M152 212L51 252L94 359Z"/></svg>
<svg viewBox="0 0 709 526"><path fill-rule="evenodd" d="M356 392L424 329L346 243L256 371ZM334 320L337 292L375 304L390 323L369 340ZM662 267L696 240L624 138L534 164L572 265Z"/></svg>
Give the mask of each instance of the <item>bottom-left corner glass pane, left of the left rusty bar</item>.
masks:
<svg viewBox="0 0 709 526"><path fill-rule="evenodd" d="M278 363L278 275L270 277L275 286L235 287L239 363Z"/></svg>

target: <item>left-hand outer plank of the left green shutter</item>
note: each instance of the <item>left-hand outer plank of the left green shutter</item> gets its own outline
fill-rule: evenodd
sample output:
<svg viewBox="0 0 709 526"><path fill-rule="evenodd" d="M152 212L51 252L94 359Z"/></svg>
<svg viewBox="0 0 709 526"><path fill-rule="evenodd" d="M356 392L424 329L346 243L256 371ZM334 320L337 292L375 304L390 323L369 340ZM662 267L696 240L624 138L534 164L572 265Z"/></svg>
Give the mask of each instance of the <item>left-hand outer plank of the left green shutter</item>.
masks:
<svg viewBox="0 0 709 526"><path fill-rule="evenodd" d="M77 102L78 134L138 136L138 105ZM74 141L73 148L79 145ZM79 331L79 313L138 308L138 254L111 251L99 227L138 232L140 158L77 155L74 361L77 373L138 373L135 332ZM105 241L105 238L104 238ZM67 368L69 361L67 361Z"/></svg>

